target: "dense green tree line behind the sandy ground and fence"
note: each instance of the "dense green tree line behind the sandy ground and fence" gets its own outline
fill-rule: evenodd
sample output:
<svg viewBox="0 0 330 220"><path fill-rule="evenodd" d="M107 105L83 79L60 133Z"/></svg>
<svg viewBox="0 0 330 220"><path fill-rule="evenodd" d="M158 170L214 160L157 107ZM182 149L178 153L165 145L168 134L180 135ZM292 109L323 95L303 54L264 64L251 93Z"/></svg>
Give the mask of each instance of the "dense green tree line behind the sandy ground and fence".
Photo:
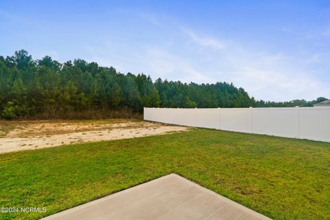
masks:
<svg viewBox="0 0 330 220"><path fill-rule="evenodd" d="M34 61L25 50L0 56L0 116L6 119L130 117L142 113L143 107L275 104L256 101L232 83L199 85L161 78L153 82L145 74L122 74L82 59L59 63L45 56Z"/></svg>

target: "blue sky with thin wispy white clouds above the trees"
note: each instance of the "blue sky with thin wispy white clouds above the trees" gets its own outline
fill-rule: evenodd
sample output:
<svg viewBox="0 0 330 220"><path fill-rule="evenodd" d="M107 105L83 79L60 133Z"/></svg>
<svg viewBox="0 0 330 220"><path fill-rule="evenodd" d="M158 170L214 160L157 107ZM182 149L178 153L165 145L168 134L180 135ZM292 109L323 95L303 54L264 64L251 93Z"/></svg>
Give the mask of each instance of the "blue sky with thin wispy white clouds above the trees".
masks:
<svg viewBox="0 0 330 220"><path fill-rule="evenodd" d="M330 97L330 1L4 1L0 55L226 81L256 99Z"/></svg>

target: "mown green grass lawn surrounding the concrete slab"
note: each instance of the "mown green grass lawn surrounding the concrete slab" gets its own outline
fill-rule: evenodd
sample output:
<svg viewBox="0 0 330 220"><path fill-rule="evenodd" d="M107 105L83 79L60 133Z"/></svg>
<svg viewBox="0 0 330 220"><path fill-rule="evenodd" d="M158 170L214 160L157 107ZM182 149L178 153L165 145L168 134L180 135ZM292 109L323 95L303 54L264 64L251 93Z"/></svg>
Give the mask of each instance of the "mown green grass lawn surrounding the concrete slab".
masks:
<svg viewBox="0 0 330 220"><path fill-rule="evenodd" d="M330 219L330 143L196 129L0 155L3 214L38 219L177 173L272 219Z"/></svg>

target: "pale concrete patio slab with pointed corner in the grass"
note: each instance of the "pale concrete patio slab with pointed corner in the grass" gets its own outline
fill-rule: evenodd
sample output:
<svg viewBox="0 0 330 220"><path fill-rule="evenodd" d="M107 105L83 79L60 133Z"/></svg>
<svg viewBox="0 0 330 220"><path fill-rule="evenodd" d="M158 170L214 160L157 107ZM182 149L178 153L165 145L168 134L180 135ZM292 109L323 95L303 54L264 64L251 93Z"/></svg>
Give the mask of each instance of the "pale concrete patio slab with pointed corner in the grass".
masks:
<svg viewBox="0 0 330 220"><path fill-rule="evenodd" d="M170 174L102 199L58 212L50 219L269 219L207 188Z"/></svg>

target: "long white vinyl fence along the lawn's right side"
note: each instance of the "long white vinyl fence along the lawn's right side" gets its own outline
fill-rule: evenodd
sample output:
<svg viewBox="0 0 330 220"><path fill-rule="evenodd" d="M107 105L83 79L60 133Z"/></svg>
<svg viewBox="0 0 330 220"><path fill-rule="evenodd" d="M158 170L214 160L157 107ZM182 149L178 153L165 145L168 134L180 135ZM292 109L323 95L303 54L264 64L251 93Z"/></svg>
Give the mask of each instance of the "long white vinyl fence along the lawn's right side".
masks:
<svg viewBox="0 0 330 220"><path fill-rule="evenodd" d="M144 120L330 142L330 107L144 108Z"/></svg>

